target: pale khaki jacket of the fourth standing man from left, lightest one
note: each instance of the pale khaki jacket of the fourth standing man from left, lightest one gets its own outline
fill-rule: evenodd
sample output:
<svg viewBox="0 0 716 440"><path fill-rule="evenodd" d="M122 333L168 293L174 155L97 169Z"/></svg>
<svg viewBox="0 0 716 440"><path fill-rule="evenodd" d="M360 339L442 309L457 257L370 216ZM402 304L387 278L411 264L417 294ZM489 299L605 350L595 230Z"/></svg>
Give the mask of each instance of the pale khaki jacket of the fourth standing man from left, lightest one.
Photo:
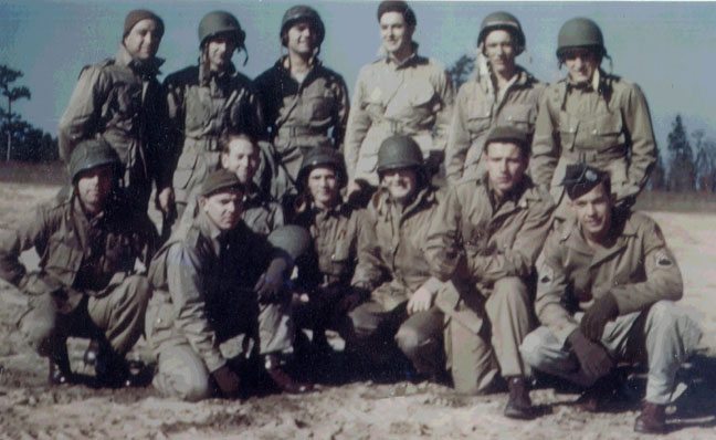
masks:
<svg viewBox="0 0 716 440"><path fill-rule="evenodd" d="M414 53L400 64L383 57L364 66L346 132L349 178L378 185L378 149L396 134L411 136L423 157L444 153L452 106L450 75L433 60Z"/></svg>

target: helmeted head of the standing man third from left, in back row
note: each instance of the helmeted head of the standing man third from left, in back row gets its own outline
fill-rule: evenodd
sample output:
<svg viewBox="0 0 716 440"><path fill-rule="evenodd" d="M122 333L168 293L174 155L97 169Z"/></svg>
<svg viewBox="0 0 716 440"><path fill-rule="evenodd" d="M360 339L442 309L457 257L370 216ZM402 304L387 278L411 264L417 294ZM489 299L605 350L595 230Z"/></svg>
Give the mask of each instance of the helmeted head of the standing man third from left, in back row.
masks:
<svg viewBox="0 0 716 440"><path fill-rule="evenodd" d="M315 9L298 4L284 13L280 35L289 52L313 56L326 36L326 28Z"/></svg>

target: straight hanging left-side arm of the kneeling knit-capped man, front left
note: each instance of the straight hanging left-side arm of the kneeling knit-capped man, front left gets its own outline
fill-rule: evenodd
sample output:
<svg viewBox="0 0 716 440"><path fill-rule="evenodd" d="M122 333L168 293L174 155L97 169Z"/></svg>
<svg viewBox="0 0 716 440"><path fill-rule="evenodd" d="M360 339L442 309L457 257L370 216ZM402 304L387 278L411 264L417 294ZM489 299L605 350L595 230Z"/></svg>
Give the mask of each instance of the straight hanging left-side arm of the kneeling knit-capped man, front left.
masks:
<svg viewBox="0 0 716 440"><path fill-rule="evenodd" d="M175 325L201 356L207 369L213 373L223 367L227 360L209 325L199 256L182 243L171 245L167 252L167 284L175 310Z"/></svg>

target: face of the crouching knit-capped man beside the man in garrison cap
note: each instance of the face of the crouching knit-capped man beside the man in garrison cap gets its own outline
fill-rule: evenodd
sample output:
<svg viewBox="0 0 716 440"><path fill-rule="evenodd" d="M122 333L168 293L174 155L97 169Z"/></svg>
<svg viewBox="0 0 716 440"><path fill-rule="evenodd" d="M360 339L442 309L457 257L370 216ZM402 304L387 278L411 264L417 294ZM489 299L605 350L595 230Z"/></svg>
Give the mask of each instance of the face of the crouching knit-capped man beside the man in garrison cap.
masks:
<svg viewBox="0 0 716 440"><path fill-rule="evenodd" d="M527 169L527 158L517 145L494 142L487 145L486 153L487 176L494 191L502 196L522 182Z"/></svg>

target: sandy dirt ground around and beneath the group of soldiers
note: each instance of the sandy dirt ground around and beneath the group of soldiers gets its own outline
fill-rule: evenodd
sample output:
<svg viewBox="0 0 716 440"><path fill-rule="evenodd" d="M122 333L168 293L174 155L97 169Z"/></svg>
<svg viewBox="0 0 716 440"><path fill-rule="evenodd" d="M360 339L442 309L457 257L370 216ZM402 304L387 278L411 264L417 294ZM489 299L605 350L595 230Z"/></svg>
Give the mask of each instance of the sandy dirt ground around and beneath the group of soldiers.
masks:
<svg viewBox="0 0 716 440"><path fill-rule="evenodd" d="M0 228L15 224L59 189L56 167L0 168ZM29 181L29 184L18 184ZM670 407L665 439L716 439L716 213L649 212L676 254L685 280L682 303L699 317L703 350L680 375L686 390ZM36 258L23 259L32 264ZM0 285L0 438L8 439L640 439L632 431L643 375L629 381L613 410L588 415L571 405L575 390L544 383L531 392L544 416L515 421L502 416L506 394L466 397L433 384L352 380L324 385L309 396L265 395L242 401L186 404L161 398L151 387L108 390L45 385L46 362L14 332L25 301ZM86 342L73 339L73 367ZM133 355L134 356L134 355ZM138 356L138 355L137 355ZM680 390L684 387L680 387Z"/></svg>

